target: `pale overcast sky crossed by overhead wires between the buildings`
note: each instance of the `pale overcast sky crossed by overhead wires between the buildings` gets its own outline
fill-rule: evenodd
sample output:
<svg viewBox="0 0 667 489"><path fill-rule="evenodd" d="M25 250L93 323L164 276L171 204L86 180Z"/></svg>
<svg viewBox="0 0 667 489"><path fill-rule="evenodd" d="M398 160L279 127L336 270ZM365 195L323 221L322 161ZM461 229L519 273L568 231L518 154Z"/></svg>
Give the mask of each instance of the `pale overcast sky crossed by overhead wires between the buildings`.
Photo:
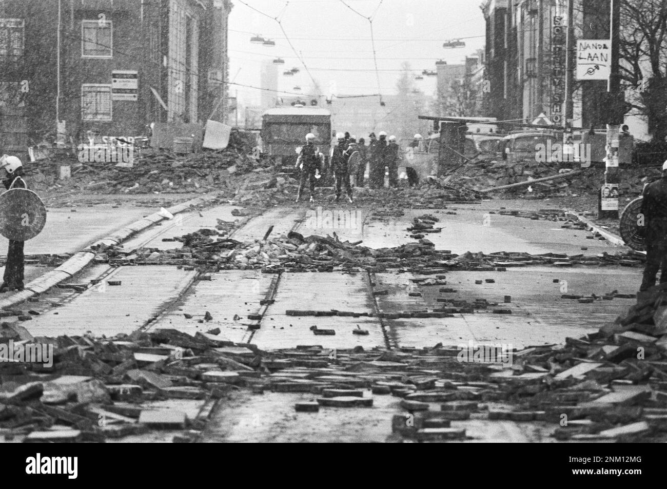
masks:
<svg viewBox="0 0 667 489"><path fill-rule="evenodd" d="M313 93L313 83L289 46L277 17L295 51L303 57L311 75L323 92L333 87L339 95L396 91L400 68L408 61L414 74L435 70L435 62L462 63L466 55L484 47L484 16L479 0L232 0L229 16L229 57L231 81L260 86L259 70L263 61L281 57L279 89ZM248 7L254 7L269 17ZM379 5L379 7L378 7ZM374 14L375 12L375 14ZM359 15L361 14L361 15ZM372 17L378 72L373 60L370 23ZM275 47L250 43L252 35L273 39ZM448 39L464 39L466 47L445 49ZM282 73L299 67L297 75ZM350 71L352 70L352 71ZM380 88L378 89L378 77ZM433 95L435 77L417 81L428 95ZM238 89L244 105L259 103L259 90L230 85L230 95Z"/></svg>

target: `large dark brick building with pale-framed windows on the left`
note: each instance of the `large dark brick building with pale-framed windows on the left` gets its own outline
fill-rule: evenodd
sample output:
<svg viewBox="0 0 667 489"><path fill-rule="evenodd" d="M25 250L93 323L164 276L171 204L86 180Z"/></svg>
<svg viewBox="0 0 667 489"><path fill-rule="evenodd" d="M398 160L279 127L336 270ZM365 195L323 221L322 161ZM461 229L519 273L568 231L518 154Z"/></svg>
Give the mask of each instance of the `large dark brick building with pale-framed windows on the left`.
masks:
<svg viewBox="0 0 667 489"><path fill-rule="evenodd" d="M139 135L153 121L225 120L230 10L229 0L1 2L0 72L19 88L5 89L1 113L25 127L14 137L3 121L5 150L7 141L25 150L28 137L53 141L57 119L75 140Z"/></svg>

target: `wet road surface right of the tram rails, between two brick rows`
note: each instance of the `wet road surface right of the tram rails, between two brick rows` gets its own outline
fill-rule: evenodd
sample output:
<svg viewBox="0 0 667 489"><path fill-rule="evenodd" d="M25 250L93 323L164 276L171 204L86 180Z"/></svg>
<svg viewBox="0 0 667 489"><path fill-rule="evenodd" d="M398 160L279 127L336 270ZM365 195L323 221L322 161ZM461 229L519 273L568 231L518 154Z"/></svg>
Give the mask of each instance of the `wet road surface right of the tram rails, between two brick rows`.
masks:
<svg viewBox="0 0 667 489"><path fill-rule="evenodd" d="M447 304L438 298L474 302L484 299L498 306L477 309L473 314L454 314L452 318L385 319L388 334L398 346L422 346L442 342L445 345L474 342L502 342L516 348L530 345L559 344L567 336L579 337L590 333L606 322L613 322L632 305L630 299L596 300L580 304L562 299L560 281L568 282L568 291L602 296L603 291L632 290L641 280L640 270L631 268L568 268L546 267L510 268L507 272L451 271L446 274L446 286L416 287L412 274L376 274L378 286L387 288L388 295L376 296L383 312L429 310ZM493 284L486 283L494 278ZM554 284L558 279L559 283ZM476 284L482 280L482 285ZM455 293L441 293L452 288ZM422 297L409 292L420 290ZM572 292L574 291L574 292ZM504 296L510 296L509 304ZM512 314L493 314L494 309L508 308Z"/></svg>

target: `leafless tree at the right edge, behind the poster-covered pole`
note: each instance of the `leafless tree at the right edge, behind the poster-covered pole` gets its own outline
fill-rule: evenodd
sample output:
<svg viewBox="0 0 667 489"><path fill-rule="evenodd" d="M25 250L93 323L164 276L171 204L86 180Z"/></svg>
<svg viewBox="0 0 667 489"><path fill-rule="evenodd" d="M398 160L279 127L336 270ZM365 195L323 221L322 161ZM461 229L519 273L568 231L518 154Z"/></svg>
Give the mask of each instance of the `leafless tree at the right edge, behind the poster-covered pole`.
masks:
<svg viewBox="0 0 667 489"><path fill-rule="evenodd" d="M667 136L667 0L620 4L620 76L632 113L657 141Z"/></svg>

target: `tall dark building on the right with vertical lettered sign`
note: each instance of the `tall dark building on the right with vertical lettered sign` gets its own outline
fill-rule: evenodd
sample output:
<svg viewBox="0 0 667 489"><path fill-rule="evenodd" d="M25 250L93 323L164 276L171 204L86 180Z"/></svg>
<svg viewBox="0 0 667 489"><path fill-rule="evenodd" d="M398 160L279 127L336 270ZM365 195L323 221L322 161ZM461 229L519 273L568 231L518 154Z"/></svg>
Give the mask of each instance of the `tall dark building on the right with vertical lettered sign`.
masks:
<svg viewBox="0 0 667 489"><path fill-rule="evenodd" d="M610 0L573 0L576 39L609 39ZM530 123L541 114L564 125L567 0L486 0L485 114L498 120ZM573 58L576 58L573 56ZM574 63L573 62L573 70ZM606 80L576 83L572 92L574 127L604 127ZM632 133L643 139L646 123L626 116Z"/></svg>

